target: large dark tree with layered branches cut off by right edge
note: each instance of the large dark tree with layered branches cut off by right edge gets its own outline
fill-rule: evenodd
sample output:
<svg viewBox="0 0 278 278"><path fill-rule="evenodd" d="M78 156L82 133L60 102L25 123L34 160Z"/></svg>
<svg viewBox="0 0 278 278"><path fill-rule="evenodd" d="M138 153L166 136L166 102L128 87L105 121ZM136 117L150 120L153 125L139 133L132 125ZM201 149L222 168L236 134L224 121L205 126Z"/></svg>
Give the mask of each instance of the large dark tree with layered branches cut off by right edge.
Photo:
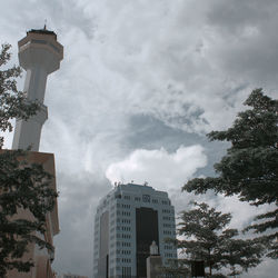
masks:
<svg viewBox="0 0 278 278"><path fill-rule="evenodd" d="M258 216L246 230L261 234L260 239L269 249L267 256L277 259L278 100L256 89L245 105L251 109L238 113L231 128L208 133L210 140L231 143L227 155L215 165L218 177L192 179L182 190L205 193L211 189L225 196L238 195L240 201L252 206L271 205L274 209Z"/></svg>

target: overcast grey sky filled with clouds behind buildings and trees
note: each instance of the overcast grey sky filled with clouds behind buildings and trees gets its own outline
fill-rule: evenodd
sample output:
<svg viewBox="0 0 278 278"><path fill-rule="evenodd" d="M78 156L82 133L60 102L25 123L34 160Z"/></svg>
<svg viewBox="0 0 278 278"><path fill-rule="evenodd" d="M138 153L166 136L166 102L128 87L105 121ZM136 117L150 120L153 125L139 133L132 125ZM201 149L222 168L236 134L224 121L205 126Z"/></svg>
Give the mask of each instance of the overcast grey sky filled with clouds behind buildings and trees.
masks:
<svg viewBox="0 0 278 278"><path fill-rule="evenodd" d="M169 191L176 210L192 199L232 212L242 228L256 211L236 198L180 193L214 175L225 153L206 133L231 125L254 88L278 91L277 0L10 0L1 43L48 29L64 47L48 79L40 151L56 155L61 232L54 269L91 276L93 215L113 181ZM23 79L19 80L23 88ZM276 95L277 96L277 95ZM11 148L12 133L6 147ZM242 277L275 277L265 261Z"/></svg>

